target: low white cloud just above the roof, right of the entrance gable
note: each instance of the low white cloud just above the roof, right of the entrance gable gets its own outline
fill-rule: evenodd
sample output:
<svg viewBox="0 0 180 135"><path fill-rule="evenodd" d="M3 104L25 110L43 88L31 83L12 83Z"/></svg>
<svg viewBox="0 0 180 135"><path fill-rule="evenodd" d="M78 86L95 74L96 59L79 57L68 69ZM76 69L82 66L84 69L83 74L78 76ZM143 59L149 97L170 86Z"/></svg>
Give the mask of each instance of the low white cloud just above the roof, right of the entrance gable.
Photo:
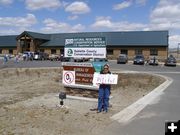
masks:
<svg viewBox="0 0 180 135"><path fill-rule="evenodd" d="M42 28L41 31L45 33L81 32L85 29L82 24L71 26L68 23L58 22L51 18L45 19L43 23L45 24L45 27Z"/></svg>

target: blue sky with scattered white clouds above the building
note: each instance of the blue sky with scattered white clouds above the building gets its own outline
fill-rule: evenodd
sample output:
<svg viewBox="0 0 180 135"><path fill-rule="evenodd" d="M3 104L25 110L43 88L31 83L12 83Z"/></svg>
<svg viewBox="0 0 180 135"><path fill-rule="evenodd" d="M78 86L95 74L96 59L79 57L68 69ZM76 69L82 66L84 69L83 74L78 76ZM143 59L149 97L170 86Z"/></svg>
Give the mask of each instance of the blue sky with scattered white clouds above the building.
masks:
<svg viewBox="0 0 180 135"><path fill-rule="evenodd" d="M180 43L180 0L0 0L0 35L169 31Z"/></svg>

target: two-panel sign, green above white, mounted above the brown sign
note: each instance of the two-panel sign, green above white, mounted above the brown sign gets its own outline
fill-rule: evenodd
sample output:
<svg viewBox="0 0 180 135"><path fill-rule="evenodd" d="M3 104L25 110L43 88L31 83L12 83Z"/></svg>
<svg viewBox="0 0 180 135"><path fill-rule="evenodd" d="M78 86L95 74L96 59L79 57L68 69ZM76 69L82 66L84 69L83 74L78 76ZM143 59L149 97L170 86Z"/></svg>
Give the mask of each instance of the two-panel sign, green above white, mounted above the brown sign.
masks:
<svg viewBox="0 0 180 135"><path fill-rule="evenodd" d="M106 58L105 37L65 39L65 57Z"/></svg>

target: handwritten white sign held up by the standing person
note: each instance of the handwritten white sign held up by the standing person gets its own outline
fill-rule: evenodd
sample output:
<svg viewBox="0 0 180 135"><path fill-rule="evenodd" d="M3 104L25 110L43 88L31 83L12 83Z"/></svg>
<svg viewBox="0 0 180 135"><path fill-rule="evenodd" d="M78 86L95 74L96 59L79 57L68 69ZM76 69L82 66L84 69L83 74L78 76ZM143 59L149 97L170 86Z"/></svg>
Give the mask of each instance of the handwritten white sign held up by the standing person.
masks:
<svg viewBox="0 0 180 135"><path fill-rule="evenodd" d="M94 73L93 84L117 84L117 74L100 74Z"/></svg>

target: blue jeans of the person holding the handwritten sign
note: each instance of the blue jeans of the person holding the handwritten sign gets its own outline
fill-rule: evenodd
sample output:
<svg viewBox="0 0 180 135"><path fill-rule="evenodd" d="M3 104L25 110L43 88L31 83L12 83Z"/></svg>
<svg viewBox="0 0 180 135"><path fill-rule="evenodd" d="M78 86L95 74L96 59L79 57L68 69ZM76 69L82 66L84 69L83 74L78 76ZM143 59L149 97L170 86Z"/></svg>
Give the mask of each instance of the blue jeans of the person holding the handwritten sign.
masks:
<svg viewBox="0 0 180 135"><path fill-rule="evenodd" d="M100 88L99 95L98 95L98 111L101 112L102 109L104 111L108 111L109 107L109 95L110 90L107 88Z"/></svg>

